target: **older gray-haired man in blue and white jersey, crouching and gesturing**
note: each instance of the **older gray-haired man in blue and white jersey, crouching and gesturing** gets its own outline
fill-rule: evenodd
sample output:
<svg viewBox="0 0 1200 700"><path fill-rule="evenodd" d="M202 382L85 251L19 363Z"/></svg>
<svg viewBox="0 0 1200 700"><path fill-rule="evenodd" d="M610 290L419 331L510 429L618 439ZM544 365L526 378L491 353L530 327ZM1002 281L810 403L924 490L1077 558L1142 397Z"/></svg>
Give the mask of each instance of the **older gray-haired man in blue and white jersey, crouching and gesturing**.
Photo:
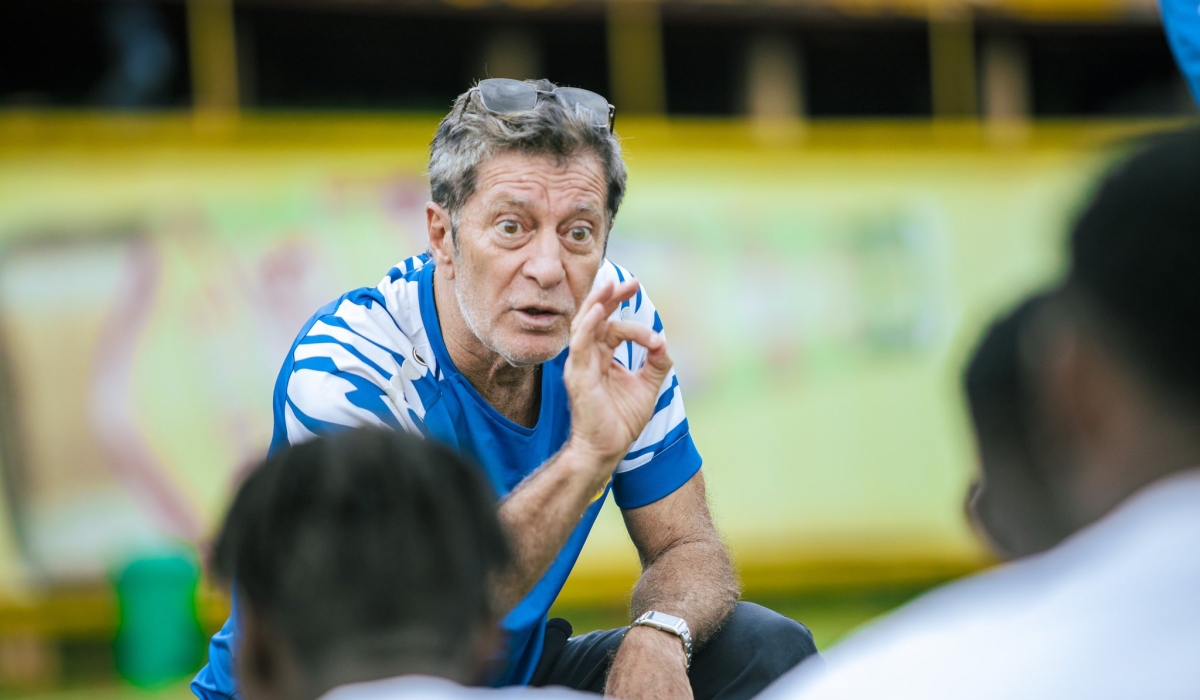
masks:
<svg viewBox="0 0 1200 700"><path fill-rule="evenodd" d="M272 449L386 425L479 461L514 552L496 582L498 684L749 698L816 650L802 626L737 602L662 322L605 258L625 193L612 113L546 80L461 95L430 149L428 252L305 325ZM546 614L610 491L642 560L635 620L568 639ZM202 698L235 693L235 617L192 684Z"/></svg>

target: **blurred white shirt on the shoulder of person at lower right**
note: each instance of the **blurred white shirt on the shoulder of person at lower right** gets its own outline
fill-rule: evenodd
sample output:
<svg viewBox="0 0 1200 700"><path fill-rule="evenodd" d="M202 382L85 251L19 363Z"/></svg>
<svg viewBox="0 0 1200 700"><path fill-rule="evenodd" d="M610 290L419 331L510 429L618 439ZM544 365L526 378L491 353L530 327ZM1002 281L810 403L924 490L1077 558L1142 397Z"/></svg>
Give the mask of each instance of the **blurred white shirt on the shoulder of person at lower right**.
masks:
<svg viewBox="0 0 1200 700"><path fill-rule="evenodd" d="M762 700L1200 699L1200 469L923 596Z"/></svg>

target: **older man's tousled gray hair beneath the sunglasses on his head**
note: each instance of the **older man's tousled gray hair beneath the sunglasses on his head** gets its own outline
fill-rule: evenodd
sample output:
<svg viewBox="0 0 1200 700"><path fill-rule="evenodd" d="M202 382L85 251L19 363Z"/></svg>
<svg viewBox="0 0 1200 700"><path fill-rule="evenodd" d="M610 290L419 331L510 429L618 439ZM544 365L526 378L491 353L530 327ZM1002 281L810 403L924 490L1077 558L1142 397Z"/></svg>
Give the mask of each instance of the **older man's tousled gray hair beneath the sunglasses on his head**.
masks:
<svg viewBox="0 0 1200 700"><path fill-rule="evenodd" d="M550 80L526 80L538 90L556 88ZM594 125L583 108L569 109L558 100L538 100L528 112L492 114L484 107L479 90L468 90L455 100L450 114L438 125L430 144L430 190L433 202L457 214L475 193L479 167L502 152L551 156L559 162L593 152L604 164L607 184L608 227L625 197L625 161L616 134Z"/></svg>

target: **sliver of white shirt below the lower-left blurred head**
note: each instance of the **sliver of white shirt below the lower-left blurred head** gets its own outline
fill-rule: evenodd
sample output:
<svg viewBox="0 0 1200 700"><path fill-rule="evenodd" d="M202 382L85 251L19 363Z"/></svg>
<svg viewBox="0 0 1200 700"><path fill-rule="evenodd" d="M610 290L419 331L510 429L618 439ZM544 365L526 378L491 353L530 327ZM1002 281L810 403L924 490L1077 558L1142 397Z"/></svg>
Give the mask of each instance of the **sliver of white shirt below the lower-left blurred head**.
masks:
<svg viewBox="0 0 1200 700"><path fill-rule="evenodd" d="M595 700L595 695L569 688L468 688L434 676L396 676L380 681L338 686L320 700Z"/></svg>

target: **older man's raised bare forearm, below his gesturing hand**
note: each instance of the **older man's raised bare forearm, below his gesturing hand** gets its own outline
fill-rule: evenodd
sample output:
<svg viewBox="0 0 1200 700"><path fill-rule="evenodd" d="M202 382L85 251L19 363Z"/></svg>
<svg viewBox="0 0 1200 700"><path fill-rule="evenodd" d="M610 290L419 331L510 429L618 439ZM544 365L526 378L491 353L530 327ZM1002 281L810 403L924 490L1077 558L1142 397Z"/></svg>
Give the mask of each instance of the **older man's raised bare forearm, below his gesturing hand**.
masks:
<svg viewBox="0 0 1200 700"><path fill-rule="evenodd" d="M516 608L546 574L588 505L612 477L612 465L570 442L500 502L512 564L493 582L497 605Z"/></svg>

